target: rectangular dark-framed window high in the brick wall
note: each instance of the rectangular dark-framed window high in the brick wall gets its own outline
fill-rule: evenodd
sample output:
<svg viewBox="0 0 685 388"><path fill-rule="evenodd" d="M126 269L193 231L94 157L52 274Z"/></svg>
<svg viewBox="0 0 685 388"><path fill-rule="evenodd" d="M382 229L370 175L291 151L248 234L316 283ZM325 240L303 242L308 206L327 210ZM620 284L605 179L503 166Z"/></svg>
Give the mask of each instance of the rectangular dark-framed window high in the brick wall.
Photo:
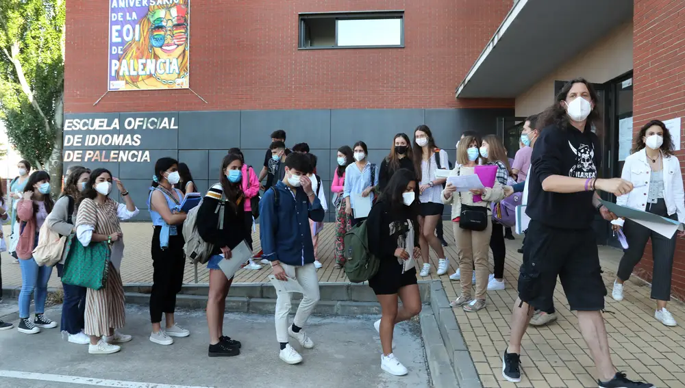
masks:
<svg viewBox="0 0 685 388"><path fill-rule="evenodd" d="M404 12L300 14L300 49L404 47Z"/></svg>

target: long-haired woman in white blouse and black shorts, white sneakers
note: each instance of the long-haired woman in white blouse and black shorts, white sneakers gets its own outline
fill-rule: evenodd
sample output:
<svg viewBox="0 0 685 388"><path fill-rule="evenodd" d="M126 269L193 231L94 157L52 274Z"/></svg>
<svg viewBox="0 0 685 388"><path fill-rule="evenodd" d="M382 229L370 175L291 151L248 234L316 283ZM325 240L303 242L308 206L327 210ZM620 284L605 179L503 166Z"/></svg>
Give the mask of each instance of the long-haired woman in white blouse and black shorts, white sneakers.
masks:
<svg viewBox="0 0 685 388"><path fill-rule="evenodd" d="M449 268L443 244L435 235L435 227L443 215L443 183L447 179L436 177L438 168L449 169L447 152L436 147L433 134L427 125L419 125L414 131L414 170L419 178L419 224L421 225L421 257L425 262L421 276L430 273L430 248L438 255L438 275L443 275Z"/></svg>

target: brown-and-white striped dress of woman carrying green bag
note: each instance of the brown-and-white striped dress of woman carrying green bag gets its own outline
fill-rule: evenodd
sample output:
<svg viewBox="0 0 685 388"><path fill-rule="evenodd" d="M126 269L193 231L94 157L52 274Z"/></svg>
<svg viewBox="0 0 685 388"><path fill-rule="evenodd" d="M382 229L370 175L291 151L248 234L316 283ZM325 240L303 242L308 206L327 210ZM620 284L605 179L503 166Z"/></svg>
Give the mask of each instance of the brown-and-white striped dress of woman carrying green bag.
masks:
<svg viewBox="0 0 685 388"><path fill-rule="evenodd" d="M119 204L108 198L103 205L84 199L79 205L76 226L93 227L93 233L111 235L121 232L117 209ZM86 327L84 333L101 337L109 335L110 328L125 324L124 287L119 271L110 262L105 287L88 289L86 293Z"/></svg>

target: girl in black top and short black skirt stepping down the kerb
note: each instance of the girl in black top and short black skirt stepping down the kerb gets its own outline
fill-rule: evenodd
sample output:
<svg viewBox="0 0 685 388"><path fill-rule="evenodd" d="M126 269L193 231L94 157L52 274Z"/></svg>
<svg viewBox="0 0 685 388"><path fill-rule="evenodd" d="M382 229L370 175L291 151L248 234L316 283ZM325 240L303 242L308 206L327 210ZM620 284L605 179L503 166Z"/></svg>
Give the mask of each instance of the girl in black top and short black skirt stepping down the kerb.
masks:
<svg viewBox="0 0 685 388"><path fill-rule="evenodd" d="M393 354L395 324L421 312L414 266L421 255L418 196L416 174L401 168L390 178L366 220L369 251L379 262L378 271L369 279L382 314L373 326L381 337L381 369L395 376L408 372ZM402 300L399 308L398 296Z"/></svg>

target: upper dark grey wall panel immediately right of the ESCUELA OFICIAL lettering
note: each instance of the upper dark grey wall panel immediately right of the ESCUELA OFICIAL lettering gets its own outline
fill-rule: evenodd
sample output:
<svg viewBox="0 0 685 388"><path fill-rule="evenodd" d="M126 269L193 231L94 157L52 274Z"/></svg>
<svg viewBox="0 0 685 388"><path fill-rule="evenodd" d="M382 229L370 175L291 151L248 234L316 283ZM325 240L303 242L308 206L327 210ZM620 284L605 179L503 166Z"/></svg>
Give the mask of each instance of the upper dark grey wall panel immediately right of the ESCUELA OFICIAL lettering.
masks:
<svg viewBox="0 0 685 388"><path fill-rule="evenodd" d="M229 149L240 146L240 112L179 112L181 149Z"/></svg>

